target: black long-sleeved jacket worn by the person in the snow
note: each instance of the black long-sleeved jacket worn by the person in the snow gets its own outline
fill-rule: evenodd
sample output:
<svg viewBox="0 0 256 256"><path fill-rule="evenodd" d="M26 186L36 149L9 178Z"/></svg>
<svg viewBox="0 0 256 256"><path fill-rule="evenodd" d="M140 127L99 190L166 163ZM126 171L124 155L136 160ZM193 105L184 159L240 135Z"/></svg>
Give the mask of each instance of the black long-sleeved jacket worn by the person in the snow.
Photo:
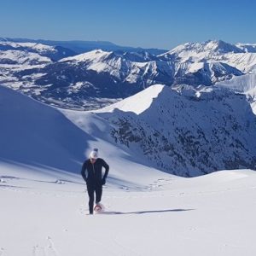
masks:
<svg viewBox="0 0 256 256"><path fill-rule="evenodd" d="M104 176L102 177L102 167L105 168ZM106 180L108 177L109 166L108 164L98 158L94 164L92 164L89 160L85 160L82 167L82 177L84 181L88 184L92 185L102 185L102 180Z"/></svg>

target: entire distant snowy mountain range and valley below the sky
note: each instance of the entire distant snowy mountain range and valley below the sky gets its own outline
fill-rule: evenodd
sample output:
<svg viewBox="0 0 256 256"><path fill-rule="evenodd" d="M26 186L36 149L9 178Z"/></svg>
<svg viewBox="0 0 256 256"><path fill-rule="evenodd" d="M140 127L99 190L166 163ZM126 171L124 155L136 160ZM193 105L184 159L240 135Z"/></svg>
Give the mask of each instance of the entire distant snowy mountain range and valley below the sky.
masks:
<svg viewBox="0 0 256 256"><path fill-rule="evenodd" d="M18 50L14 57L6 56L13 54L13 48L22 46L37 49L34 54L44 58L42 52L53 50L52 46L0 44L12 47L2 50L0 56L0 63L4 63L0 64L0 84L61 108L102 108L152 84L211 86L256 73L256 53L251 49L253 44L250 48L249 44L234 45L220 40L179 45L157 56L147 52L95 49L59 61L29 61L30 58L26 61L26 51L22 56ZM35 59L39 58L38 55L32 56ZM19 65L15 66L15 63ZM20 63L24 64L20 66Z"/></svg>

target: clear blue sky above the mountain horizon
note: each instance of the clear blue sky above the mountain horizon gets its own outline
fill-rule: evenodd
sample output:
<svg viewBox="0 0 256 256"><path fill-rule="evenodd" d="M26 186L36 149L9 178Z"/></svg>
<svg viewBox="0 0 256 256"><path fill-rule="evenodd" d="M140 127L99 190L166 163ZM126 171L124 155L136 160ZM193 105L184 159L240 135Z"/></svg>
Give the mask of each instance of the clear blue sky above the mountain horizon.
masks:
<svg viewBox="0 0 256 256"><path fill-rule="evenodd" d="M172 49L222 39L256 44L256 1L5 0L0 37L101 40Z"/></svg>

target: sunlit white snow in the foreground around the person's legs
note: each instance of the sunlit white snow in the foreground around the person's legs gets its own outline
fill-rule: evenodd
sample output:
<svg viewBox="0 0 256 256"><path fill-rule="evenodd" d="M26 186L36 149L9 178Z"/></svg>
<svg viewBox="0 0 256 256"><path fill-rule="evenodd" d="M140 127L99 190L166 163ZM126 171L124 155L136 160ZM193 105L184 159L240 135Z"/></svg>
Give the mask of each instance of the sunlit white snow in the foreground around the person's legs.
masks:
<svg viewBox="0 0 256 256"><path fill-rule="evenodd" d="M189 179L159 173L141 190L108 181L106 212L93 216L81 177L6 165L0 177L1 256L256 253L253 171Z"/></svg>

